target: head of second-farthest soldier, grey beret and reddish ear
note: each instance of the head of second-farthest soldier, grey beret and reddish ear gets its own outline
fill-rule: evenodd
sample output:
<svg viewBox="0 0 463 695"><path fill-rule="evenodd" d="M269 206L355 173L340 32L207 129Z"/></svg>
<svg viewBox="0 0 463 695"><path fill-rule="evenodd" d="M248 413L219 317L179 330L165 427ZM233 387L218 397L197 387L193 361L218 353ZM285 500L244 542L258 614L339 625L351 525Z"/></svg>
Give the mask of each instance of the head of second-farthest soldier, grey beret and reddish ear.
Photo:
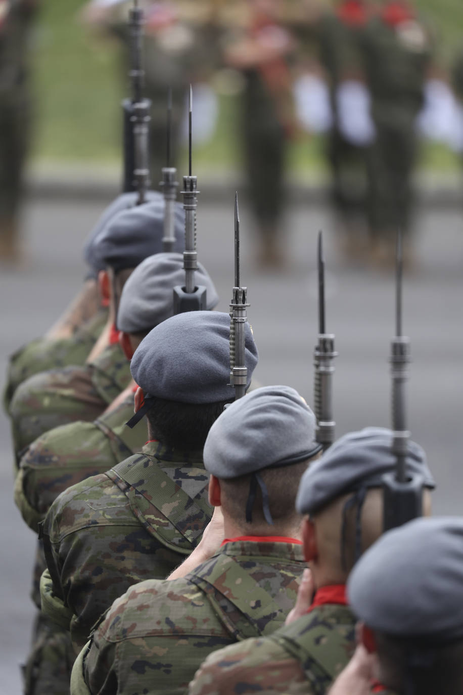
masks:
<svg viewBox="0 0 463 695"><path fill-rule="evenodd" d="M134 268L147 256L162 251L165 204L162 195L143 205L112 215L87 242L85 259L98 272L103 297L109 301L110 319L115 322L122 288ZM176 204L176 252L182 252L185 240L183 208Z"/></svg>

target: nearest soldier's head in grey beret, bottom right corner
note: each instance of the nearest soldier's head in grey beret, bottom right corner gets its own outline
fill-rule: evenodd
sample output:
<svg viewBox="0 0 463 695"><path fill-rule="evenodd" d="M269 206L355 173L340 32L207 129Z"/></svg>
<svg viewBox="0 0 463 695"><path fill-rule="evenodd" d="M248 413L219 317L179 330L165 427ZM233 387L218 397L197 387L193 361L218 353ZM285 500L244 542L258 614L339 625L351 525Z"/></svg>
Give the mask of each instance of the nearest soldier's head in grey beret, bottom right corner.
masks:
<svg viewBox="0 0 463 695"><path fill-rule="evenodd" d="M404 695L463 695L463 519L419 518L360 559L348 600L378 655L378 679Z"/></svg>

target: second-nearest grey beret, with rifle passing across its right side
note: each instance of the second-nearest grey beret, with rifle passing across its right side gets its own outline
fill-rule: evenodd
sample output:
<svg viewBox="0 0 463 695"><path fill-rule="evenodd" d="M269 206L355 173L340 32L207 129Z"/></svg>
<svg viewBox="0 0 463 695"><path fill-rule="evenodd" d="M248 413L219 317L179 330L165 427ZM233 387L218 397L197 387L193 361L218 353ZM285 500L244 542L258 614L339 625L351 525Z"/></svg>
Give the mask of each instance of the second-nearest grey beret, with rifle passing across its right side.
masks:
<svg viewBox="0 0 463 695"><path fill-rule="evenodd" d="M384 427L365 427L340 437L305 471L296 498L298 512L314 514L341 495L381 486L382 475L396 467L392 439L392 431ZM421 473L427 487L435 487L426 454L413 441L408 442L406 466L410 473Z"/></svg>

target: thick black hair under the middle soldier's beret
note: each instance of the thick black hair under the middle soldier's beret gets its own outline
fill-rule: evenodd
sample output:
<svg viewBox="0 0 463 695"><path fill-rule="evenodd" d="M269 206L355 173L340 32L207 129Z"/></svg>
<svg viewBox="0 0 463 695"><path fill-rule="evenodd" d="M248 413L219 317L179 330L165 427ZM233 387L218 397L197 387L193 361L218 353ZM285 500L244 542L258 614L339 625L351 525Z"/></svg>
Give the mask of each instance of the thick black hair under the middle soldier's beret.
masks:
<svg viewBox="0 0 463 695"><path fill-rule="evenodd" d="M165 398L153 398L153 405L146 413L149 434L153 439L174 449L199 450L215 420L224 411L229 400L217 403L180 403Z"/></svg>

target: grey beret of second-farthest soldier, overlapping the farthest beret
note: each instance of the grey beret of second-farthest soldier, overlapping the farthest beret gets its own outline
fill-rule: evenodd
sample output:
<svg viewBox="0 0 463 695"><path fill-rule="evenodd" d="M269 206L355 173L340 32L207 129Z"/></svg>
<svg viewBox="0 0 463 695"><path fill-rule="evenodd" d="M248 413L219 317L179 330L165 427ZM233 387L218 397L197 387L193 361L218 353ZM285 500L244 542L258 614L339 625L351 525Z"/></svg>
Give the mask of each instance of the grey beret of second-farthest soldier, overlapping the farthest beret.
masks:
<svg viewBox="0 0 463 695"><path fill-rule="evenodd" d="M87 246L87 256L100 268L108 265L114 270L135 268L147 256L162 251L164 236L164 199L123 210L113 216ZM185 247L185 213L180 203L175 205L174 251Z"/></svg>

